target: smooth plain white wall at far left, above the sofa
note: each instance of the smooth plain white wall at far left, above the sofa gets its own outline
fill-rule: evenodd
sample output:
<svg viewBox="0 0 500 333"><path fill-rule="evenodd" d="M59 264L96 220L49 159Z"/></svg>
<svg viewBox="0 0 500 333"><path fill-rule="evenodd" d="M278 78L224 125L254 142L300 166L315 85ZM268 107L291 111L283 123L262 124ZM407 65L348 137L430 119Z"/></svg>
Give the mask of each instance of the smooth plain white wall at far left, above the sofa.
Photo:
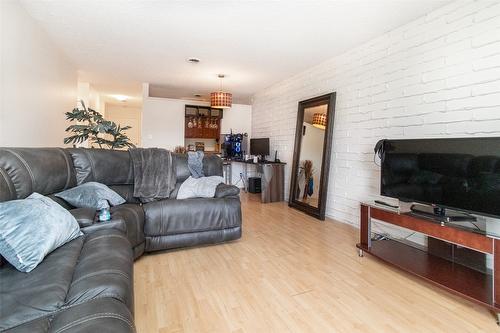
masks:
<svg viewBox="0 0 500 333"><path fill-rule="evenodd" d="M62 146L76 69L18 1L0 9L0 146Z"/></svg>

